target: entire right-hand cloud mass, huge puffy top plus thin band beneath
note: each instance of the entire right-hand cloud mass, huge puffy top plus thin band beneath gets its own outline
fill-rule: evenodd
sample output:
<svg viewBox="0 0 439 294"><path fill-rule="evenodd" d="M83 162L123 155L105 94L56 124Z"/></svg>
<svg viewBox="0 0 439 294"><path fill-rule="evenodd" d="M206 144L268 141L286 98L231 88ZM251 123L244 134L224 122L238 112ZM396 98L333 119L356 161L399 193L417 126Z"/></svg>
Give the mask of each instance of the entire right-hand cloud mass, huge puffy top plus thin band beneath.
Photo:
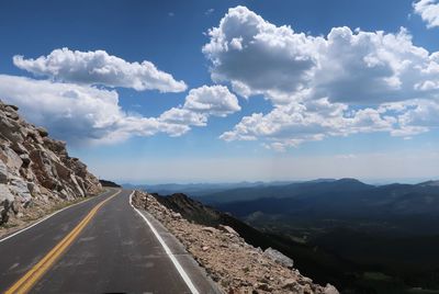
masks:
<svg viewBox="0 0 439 294"><path fill-rule="evenodd" d="M261 139L284 150L357 133L407 137L438 124L439 53L414 45L405 29L392 34L344 26L311 36L237 7L209 36L203 53L212 79L273 105L243 117L221 136L225 140Z"/></svg>

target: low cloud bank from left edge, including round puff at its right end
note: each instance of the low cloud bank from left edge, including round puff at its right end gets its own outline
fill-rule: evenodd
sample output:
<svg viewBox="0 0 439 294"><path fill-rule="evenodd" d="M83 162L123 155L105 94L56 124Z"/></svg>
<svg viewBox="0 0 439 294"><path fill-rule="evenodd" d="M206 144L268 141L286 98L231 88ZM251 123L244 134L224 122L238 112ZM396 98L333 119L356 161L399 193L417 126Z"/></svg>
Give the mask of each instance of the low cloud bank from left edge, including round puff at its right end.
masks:
<svg viewBox="0 0 439 294"><path fill-rule="evenodd" d="M181 136L191 126L206 126L210 115L239 110L236 97L222 86L193 89L187 97L188 108L172 108L158 117L126 113L115 90L68 82L0 75L0 94L30 122L75 145L113 144L158 133Z"/></svg>

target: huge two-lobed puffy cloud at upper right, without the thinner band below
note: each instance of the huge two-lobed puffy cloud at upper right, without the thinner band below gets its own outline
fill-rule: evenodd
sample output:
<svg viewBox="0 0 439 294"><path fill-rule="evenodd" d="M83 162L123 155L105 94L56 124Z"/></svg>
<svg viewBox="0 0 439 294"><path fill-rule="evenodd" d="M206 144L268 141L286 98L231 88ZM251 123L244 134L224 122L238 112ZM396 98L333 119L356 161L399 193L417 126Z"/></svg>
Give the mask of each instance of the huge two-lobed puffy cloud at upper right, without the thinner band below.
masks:
<svg viewBox="0 0 439 294"><path fill-rule="evenodd" d="M397 34L334 27L326 37L275 26L245 7L232 8L209 32L203 53L215 81L244 97L263 94L274 104L311 89L315 99L380 104L430 95L439 88L438 54Z"/></svg>

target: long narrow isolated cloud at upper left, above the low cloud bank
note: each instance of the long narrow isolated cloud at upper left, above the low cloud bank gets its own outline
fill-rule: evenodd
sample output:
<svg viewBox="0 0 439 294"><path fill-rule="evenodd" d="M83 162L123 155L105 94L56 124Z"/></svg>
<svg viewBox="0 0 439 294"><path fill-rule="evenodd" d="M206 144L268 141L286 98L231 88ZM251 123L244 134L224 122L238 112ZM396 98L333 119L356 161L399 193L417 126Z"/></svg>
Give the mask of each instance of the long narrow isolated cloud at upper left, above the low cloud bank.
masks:
<svg viewBox="0 0 439 294"><path fill-rule="evenodd" d="M175 80L150 61L128 63L104 50L79 52L61 48L36 59L15 55L13 63L36 76L63 82L123 87L137 91L182 92L187 89L183 81Z"/></svg>

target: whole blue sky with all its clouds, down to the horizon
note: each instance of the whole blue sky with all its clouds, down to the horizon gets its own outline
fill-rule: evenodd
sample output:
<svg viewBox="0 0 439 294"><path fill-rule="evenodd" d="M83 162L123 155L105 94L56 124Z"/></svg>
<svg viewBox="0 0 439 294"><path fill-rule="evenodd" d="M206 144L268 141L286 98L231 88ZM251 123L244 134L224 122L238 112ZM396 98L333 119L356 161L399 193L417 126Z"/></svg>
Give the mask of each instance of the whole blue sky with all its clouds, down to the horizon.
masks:
<svg viewBox="0 0 439 294"><path fill-rule="evenodd" d="M132 183L439 179L439 1L1 1L0 99Z"/></svg>

